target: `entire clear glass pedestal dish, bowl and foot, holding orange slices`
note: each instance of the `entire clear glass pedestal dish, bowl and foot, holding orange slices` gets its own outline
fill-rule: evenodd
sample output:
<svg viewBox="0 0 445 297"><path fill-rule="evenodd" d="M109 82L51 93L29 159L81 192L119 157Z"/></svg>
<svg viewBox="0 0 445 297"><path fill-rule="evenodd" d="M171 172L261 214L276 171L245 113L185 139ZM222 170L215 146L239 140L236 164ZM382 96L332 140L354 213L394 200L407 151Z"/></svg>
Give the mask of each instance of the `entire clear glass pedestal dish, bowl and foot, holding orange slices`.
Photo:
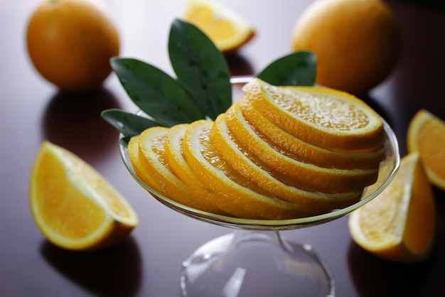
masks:
<svg viewBox="0 0 445 297"><path fill-rule="evenodd" d="M335 296L328 266L310 245L282 239L280 231L320 225L348 215L379 195L391 182L400 163L397 139L385 126L385 161L380 163L377 182L365 188L354 205L323 215L292 220L246 220L215 215L182 205L151 189L140 180L121 144L122 160L133 178L156 200L198 220L235 229L213 239L183 261L181 296L286 297Z"/></svg>

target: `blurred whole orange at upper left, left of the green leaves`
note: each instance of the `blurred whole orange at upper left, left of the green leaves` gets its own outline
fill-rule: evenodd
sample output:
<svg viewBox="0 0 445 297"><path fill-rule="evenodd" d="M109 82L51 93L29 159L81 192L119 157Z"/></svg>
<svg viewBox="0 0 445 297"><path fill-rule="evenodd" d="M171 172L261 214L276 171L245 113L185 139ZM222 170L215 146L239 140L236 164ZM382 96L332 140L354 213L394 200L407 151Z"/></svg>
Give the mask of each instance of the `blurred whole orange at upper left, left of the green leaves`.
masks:
<svg viewBox="0 0 445 297"><path fill-rule="evenodd" d="M28 53L43 77L61 90L99 87L119 55L119 33L96 0L45 0L31 15Z"/></svg>

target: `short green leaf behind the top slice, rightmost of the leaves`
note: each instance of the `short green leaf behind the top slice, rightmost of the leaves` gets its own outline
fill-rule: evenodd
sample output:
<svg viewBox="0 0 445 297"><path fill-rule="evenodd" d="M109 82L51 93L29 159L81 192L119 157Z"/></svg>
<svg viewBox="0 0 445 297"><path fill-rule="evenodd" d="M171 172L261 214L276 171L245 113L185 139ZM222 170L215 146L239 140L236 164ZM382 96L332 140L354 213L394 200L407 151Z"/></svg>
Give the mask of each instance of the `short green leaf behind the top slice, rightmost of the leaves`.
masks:
<svg viewBox="0 0 445 297"><path fill-rule="evenodd" d="M311 86L316 80L316 57L309 51L285 55L259 72L258 78L271 85Z"/></svg>

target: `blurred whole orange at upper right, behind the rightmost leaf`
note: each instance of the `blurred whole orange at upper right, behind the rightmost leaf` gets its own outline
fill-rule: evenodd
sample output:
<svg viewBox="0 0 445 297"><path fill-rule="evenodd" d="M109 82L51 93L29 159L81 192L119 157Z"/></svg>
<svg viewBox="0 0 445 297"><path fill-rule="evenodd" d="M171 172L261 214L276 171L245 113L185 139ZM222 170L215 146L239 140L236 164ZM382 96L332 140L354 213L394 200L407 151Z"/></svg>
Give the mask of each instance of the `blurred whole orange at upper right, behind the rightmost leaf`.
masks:
<svg viewBox="0 0 445 297"><path fill-rule="evenodd" d="M363 95L395 68L402 35L380 0L316 0L296 21L291 43L316 55L316 83Z"/></svg>

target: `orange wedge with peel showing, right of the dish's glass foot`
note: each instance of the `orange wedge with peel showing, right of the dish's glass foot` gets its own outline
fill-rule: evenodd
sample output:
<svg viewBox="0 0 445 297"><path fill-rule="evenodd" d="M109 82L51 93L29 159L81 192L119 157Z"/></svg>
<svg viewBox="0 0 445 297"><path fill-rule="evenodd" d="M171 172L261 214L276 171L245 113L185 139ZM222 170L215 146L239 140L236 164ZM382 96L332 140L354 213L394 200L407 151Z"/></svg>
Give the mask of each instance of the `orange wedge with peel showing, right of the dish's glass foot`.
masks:
<svg viewBox="0 0 445 297"><path fill-rule="evenodd" d="M417 153L402 158L392 183L349 217L354 241L390 261L427 259L435 225L434 194Z"/></svg>

